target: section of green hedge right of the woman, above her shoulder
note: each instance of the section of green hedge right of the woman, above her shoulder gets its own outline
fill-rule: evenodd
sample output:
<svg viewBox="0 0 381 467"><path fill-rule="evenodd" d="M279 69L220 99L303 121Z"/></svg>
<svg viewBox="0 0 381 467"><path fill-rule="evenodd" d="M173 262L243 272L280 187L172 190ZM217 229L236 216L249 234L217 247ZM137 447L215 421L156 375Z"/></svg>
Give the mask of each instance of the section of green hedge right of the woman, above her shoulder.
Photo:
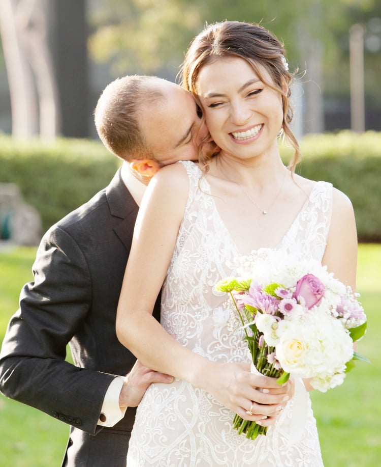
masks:
<svg viewBox="0 0 381 467"><path fill-rule="evenodd" d="M381 132L306 136L300 173L329 181L352 201L360 241L381 241ZM345 235L345 226L343 226Z"/></svg>

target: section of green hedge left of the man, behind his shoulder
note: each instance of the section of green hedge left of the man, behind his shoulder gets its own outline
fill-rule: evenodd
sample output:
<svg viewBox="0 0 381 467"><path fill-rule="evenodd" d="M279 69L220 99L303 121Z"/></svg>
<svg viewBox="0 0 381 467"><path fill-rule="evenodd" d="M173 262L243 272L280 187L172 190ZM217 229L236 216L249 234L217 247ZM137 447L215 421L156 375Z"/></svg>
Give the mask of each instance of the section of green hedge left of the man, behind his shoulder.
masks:
<svg viewBox="0 0 381 467"><path fill-rule="evenodd" d="M16 183L43 230L106 186L120 159L96 141L14 140L0 135L0 182Z"/></svg>

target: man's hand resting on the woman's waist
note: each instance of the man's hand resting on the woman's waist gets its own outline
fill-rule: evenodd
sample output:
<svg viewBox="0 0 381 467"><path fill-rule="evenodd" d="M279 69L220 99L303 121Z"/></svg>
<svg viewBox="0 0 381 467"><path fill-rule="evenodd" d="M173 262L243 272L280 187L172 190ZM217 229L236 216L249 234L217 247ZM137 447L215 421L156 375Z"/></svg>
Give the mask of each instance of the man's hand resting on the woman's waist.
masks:
<svg viewBox="0 0 381 467"><path fill-rule="evenodd" d="M130 373L124 377L119 396L120 409L139 405L152 382L170 383L173 379L173 376L150 370L137 360Z"/></svg>

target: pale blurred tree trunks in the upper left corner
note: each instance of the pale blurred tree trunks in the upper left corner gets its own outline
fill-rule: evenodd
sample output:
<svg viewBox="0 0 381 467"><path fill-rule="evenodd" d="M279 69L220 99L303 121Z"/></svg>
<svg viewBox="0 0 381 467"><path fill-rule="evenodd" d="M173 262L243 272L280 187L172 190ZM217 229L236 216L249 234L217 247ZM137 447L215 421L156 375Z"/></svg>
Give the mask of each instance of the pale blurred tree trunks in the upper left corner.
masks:
<svg viewBox="0 0 381 467"><path fill-rule="evenodd" d="M59 129L59 103L46 41L44 0L3 0L0 26L12 106L12 133L44 139Z"/></svg>

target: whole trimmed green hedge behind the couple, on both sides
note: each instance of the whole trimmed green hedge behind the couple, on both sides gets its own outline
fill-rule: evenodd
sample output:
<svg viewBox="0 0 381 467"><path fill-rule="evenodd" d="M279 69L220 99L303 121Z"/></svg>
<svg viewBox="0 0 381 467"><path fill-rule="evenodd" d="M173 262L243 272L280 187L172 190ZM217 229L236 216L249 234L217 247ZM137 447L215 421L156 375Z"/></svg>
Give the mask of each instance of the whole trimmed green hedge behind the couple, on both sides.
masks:
<svg viewBox="0 0 381 467"><path fill-rule="evenodd" d="M381 132L304 136L297 172L326 180L352 201L360 241L381 241ZM287 162L290 149L282 147ZM0 182L19 185L46 230L106 186L120 160L98 141L54 143L0 135ZM345 235L345 226L343 226Z"/></svg>

